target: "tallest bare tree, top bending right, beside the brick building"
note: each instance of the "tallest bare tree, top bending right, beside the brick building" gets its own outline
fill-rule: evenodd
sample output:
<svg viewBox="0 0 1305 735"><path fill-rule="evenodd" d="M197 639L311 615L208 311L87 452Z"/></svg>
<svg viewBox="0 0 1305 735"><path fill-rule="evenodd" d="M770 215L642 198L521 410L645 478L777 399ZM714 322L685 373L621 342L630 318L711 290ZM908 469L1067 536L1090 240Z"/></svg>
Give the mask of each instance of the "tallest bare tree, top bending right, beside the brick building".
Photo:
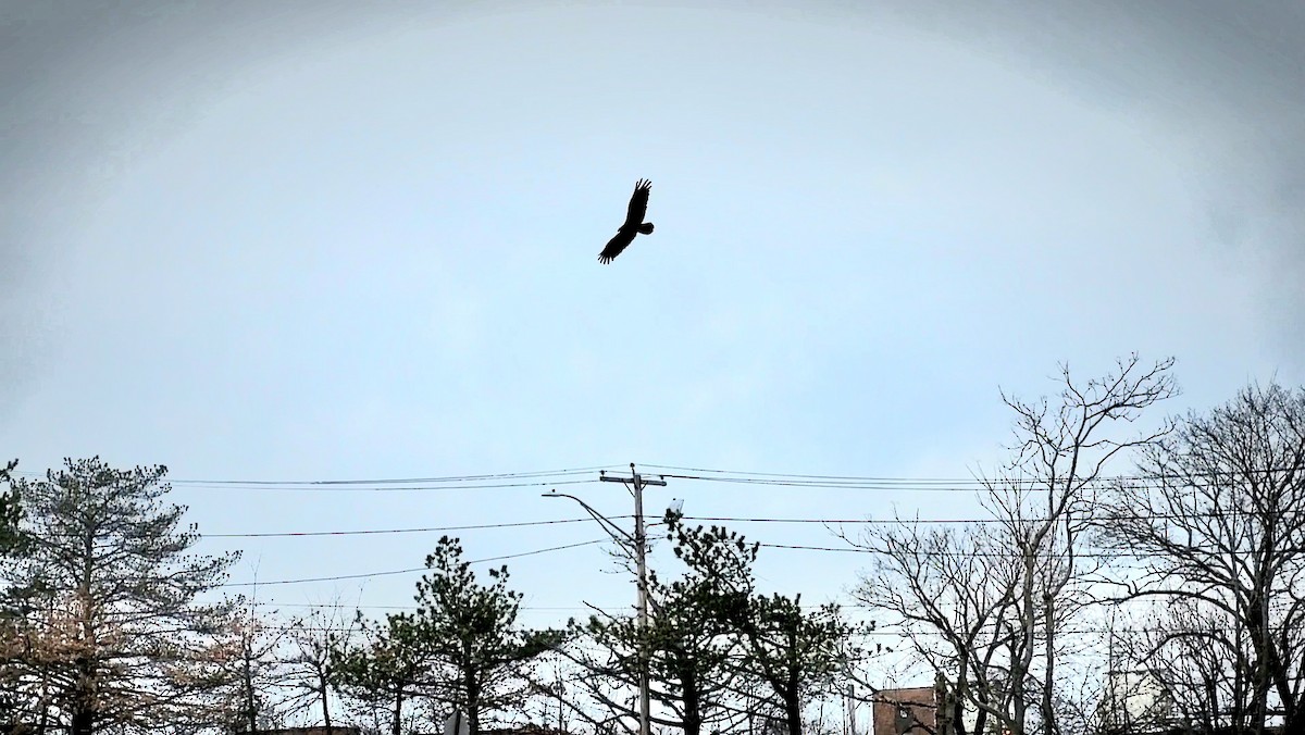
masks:
<svg viewBox="0 0 1305 735"><path fill-rule="evenodd" d="M1124 439L1111 430L1176 393L1172 364L1146 367L1133 355L1086 384L1062 366L1054 409L1004 392L1017 444L996 478L980 478L990 522L924 529L898 518L852 542L877 555L857 597L902 621L910 645L953 689L958 727L970 706L980 728L990 718L1013 735L1061 732L1062 631L1091 602L1095 564L1082 546L1101 473L1169 427Z"/></svg>

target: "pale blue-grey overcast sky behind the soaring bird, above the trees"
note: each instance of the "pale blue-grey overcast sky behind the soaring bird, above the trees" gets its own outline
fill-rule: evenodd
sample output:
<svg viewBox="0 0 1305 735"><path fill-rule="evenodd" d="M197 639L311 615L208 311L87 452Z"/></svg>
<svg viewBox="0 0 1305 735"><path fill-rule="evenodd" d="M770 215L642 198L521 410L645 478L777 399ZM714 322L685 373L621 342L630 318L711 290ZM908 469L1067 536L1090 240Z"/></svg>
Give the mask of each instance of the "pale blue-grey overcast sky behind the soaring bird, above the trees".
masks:
<svg viewBox="0 0 1305 735"><path fill-rule="evenodd" d="M1054 390L1064 360L1176 356L1163 411L1301 383L1300 3L697 5L0 4L0 454L177 480L967 478L1005 457L998 388ZM602 266L639 178L656 232ZM979 513L668 482L652 514ZM578 517L543 490L174 497L207 534ZM630 512L617 484L565 490ZM602 531L459 535L479 559ZM420 567L437 538L202 543L244 548L248 582ZM766 550L762 572L846 599L864 563ZM531 624L633 597L600 546L509 567ZM402 606L414 580L258 595Z"/></svg>

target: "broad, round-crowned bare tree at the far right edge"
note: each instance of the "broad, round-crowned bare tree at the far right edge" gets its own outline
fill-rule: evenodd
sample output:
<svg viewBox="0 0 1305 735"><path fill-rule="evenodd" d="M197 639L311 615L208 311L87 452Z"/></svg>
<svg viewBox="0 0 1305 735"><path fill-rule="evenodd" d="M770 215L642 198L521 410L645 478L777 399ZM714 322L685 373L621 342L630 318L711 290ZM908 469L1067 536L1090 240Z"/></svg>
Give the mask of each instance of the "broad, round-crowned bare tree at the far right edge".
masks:
<svg viewBox="0 0 1305 735"><path fill-rule="evenodd" d="M1189 414L1143 470L1114 488L1101 535L1147 561L1124 597L1174 611L1146 658L1185 661L1169 674L1215 725L1259 731L1276 713L1305 732L1305 388Z"/></svg>

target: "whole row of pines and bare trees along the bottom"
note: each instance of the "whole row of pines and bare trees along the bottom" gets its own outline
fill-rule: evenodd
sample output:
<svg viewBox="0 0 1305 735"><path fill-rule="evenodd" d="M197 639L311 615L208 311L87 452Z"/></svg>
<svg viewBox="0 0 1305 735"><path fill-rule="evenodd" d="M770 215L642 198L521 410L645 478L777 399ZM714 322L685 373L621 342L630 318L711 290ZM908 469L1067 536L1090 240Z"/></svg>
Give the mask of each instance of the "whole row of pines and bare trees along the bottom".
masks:
<svg viewBox="0 0 1305 735"><path fill-rule="evenodd" d="M1051 398L1004 394L1014 443L980 474L979 522L838 531L869 552L852 591L880 631L766 589L758 543L673 512L676 563L649 576L646 625L594 608L527 628L508 568L479 576L452 537L410 610L284 623L218 597L239 554L194 552L166 467L93 457L26 479L9 462L0 732L412 735L458 713L471 735L624 735L646 680L656 732L814 735L850 685L882 700L891 661L937 681L934 717L915 722L932 735L1302 735L1305 389L1154 416L1172 367L1134 355L1086 383L1062 368Z"/></svg>

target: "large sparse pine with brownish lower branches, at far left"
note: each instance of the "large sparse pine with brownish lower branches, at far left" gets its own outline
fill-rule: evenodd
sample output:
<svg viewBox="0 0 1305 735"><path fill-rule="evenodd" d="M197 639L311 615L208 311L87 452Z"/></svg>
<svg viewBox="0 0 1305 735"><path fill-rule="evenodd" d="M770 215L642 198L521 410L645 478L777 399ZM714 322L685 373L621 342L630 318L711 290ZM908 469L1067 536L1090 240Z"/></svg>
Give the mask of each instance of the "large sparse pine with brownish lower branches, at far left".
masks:
<svg viewBox="0 0 1305 735"><path fill-rule="evenodd" d="M189 554L200 537L181 526L184 507L163 503L166 474L93 457L14 483L31 542L17 569L25 676L39 683L42 717L72 735L204 717L221 683L214 641L228 611L196 598L239 554Z"/></svg>

